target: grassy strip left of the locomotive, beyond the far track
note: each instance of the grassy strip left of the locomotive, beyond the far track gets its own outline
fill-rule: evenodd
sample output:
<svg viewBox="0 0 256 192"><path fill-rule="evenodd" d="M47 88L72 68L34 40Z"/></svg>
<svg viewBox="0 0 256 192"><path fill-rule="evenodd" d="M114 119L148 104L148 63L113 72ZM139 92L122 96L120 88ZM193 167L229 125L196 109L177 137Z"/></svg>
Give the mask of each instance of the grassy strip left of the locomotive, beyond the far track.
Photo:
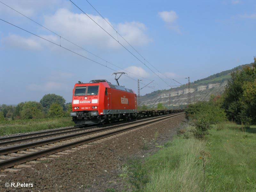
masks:
<svg viewBox="0 0 256 192"><path fill-rule="evenodd" d="M25 133L75 125L71 117L4 121L0 123L0 135Z"/></svg>

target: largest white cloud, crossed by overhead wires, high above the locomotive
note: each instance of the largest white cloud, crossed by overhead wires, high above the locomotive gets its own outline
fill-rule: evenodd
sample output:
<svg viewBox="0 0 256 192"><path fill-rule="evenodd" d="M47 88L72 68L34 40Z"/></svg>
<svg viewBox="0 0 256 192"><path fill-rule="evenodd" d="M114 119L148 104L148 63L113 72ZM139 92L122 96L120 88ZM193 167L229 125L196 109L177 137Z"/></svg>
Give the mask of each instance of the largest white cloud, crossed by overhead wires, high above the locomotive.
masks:
<svg viewBox="0 0 256 192"><path fill-rule="evenodd" d="M88 15L114 38L117 38L113 28L100 16ZM108 22L111 23L109 20ZM61 36L82 45L96 45L102 48L120 47L112 37L83 13L77 14L67 9L59 9L55 14L45 16L45 25L47 28L58 32ZM115 26L115 24L112 25ZM119 23L116 28L133 45L141 46L151 41L144 33L146 31L145 25L140 22ZM123 40L119 37L119 41Z"/></svg>

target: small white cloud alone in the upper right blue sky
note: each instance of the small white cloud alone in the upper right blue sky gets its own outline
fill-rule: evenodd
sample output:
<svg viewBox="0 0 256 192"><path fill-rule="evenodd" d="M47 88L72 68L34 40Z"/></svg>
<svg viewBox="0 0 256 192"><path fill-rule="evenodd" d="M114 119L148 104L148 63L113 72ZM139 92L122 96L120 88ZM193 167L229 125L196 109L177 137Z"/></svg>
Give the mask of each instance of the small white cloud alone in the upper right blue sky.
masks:
<svg viewBox="0 0 256 192"><path fill-rule="evenodd" d="M165 22L167 28L180 32L180 27L176 24L176 20L178 19L178 15L175 11L162 11L158 12L158 16Z"/></svg>

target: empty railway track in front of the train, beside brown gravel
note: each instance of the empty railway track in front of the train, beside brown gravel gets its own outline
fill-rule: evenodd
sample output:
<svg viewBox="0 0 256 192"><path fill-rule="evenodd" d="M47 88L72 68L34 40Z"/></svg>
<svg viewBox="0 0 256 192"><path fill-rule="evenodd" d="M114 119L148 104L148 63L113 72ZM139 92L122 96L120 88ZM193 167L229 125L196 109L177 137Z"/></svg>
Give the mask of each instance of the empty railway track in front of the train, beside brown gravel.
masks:
<svg viewBox="0 0 256 192"><path fill-rule="evenodd" d="M107 126L99 129L87 130L46 140L40 140L8 148L2 148L0 149L0 169L9 168L14 166L15 164L26 163L27 161L51 155L68 148L91 143L95 140L100 140L102 138L118 134L120 132L125 132L141 126L172 118L183 113L184 112L157 116L121 125L118 124L113 126Z"/></svg>

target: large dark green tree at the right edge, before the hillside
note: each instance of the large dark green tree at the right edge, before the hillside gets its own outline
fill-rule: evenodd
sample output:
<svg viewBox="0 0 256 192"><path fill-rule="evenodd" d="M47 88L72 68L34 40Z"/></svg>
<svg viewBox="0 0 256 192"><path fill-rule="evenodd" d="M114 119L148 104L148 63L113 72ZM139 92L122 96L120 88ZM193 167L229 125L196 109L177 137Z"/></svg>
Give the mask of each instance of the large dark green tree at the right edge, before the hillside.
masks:
<svg viewBox="0 0 256 192"><path fill-rule="evenodd" d="M229 120L256 123L256 58L252 67L244 67L231 77L223 94L223 108Z"/></svg>

